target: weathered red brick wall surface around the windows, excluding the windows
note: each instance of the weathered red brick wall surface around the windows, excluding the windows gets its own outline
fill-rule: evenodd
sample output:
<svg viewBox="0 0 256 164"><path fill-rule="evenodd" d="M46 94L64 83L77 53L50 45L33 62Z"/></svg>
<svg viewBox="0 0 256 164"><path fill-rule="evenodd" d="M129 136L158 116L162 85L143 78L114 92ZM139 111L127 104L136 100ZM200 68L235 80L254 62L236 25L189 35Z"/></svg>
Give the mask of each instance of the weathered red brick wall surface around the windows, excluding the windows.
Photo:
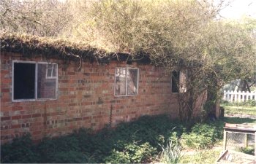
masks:
<svg viewBox="0 0 256 164"><path fill-rule="evenodd" d="M12 60L59 63L57 100L12 102ZM135 67L140 71L138 95L115 97L115 70ZM171 93L170 75L151 65L83 63L82 69L61 60L24 58L1 52L1 143L29 132L34 140L43 136L59 136L77 128L99 130L110 122L135 120L144 114L170 114L177 117L176 94Z"/></svg>

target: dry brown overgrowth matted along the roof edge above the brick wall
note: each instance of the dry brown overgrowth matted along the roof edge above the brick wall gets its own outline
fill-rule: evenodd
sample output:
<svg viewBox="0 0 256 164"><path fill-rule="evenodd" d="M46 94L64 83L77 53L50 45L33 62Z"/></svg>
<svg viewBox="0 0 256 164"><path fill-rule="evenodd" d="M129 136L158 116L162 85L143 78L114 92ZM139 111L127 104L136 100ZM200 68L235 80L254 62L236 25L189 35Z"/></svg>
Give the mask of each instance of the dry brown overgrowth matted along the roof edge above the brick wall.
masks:
<svg viewBox="0 0 256 164"><path fill-rule="evenodd" d="M43 55L45 58L80 60L80 63L82 60L97 61L98 63L109 63L110 60L124 60L127 62L136 60L150 63L148 55L143 53L131 55L128 53L107 52L83 42L70 42L64 39L52 39L29 34L1 33L0 40L2 52L19 52L26 57Z"/></svg>

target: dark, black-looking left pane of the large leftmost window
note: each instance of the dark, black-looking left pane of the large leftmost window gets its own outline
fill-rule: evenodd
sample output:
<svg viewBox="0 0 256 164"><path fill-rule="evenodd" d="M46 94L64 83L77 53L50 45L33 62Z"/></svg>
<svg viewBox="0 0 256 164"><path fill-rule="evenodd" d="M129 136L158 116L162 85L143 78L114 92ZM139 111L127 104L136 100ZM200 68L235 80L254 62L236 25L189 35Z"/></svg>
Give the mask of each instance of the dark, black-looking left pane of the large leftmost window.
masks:
<svg viewBox="0 0 256 164"><path fill-rule="evenodd" d="M14 63L14 100L35 98L34 63Z"/></svg>

